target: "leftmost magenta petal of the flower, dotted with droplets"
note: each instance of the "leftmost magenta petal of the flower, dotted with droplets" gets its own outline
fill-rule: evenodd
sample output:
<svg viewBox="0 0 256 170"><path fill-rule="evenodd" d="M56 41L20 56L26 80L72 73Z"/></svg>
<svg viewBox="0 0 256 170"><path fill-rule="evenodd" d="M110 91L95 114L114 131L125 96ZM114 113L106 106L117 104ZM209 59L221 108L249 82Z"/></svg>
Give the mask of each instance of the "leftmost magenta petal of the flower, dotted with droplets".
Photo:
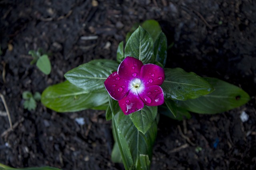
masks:
<svg viewBox="0 0 256 170"><path fill-rule="evenodd" d="M128 87L129 80L124 80L120 76L118 76L117 72L113 72L108 76L108 78L105 80L104 85L106 90L108 91L108 94L114 99L114 100L121 100L124 98L126 93L130 90Z"/></svg>

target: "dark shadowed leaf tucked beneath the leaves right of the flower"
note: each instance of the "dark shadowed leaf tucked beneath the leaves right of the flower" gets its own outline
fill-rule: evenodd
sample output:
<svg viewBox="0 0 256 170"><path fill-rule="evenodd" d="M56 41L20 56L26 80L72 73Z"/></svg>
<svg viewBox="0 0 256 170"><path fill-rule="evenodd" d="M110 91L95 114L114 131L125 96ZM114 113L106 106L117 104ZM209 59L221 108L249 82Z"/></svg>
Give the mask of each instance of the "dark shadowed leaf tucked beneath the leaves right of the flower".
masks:
<svg viewBox="0 0 256 170"><path fill-rule="evenodd" d="M174 114L170 111L170 109L167 106L162 105L158 107L158 110L159 110L159 113L179 121L183 120L184 118L186 119L191 118L190 113L186 109L183 109L181 107L176 108L176 116L174 116Z"/></svg>

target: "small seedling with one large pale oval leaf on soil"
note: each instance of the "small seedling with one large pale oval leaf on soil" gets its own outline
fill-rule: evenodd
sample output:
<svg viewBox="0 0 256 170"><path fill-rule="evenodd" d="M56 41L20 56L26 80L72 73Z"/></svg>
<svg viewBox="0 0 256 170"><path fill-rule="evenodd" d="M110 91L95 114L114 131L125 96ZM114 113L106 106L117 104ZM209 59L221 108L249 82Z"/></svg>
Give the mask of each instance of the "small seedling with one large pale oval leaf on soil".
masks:
<svg viewBox="0 0 256 170"><path fill-rule="evenodd" d="M47 54L44 54L42 49L37 51L30 50L28 51L29 55L32 55L33 60L30 62L30 65L35 64L44 74L48 75L51 72L51 63Z"/></svg>

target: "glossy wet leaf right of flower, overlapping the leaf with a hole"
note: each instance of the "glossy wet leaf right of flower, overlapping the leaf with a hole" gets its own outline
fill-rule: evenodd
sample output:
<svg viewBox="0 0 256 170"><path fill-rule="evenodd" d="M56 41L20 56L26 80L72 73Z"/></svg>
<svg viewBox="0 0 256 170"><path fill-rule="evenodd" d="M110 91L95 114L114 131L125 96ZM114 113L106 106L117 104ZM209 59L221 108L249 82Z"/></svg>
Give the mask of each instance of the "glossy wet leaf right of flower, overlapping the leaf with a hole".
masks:
<svg viewBox="0 0 256 170"><path fill-rule="evenodd" d="M165 68L162 84L165 99L188 100L204 96L214 91L212 85L194 72L182 68Z"/></svg>

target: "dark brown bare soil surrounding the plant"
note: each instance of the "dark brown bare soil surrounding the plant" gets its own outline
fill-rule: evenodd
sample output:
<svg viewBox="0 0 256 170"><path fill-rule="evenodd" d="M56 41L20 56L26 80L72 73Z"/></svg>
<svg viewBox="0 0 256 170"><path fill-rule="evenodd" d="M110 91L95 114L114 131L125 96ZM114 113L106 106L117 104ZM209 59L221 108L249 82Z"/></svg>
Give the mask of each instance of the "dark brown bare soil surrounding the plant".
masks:
<svg viewBox="0 0 256 170"><path fill-rule="evenodd" d="M220 78L252 97L245 106L175 121L160 116L152 170L256 169L256 1L254 0L1 0L0 162L12 167L117 170L104 111L56 113L38 103L24 109L22 92L42 92L92 59L115 59L136 22L155 19L168 37L168 67ZM97 36L85 40L84 37ZM52 72L30 65L31 49L51 53ZM5 111L0 103L1 113ZM242 122L240 114L249 115ZM2 114L1 114L2 115ZM85 124L74 120L84 117Z"/></svg>

